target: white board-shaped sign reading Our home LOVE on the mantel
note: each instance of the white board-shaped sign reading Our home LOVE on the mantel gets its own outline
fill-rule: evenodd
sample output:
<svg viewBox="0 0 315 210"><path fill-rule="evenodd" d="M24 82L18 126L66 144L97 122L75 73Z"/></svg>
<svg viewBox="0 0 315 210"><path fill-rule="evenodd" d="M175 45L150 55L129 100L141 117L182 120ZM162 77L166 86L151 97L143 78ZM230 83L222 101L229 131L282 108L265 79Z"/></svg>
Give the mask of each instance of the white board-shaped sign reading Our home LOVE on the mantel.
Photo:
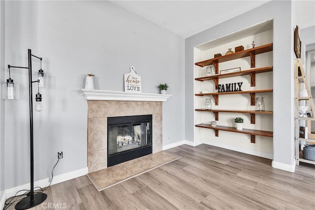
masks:
<svg viewBox="0 0 315 210"><path fill-rule="evenodd" d="M130 72L124 74L125 92L142 92L141 77L137 75L135 68L130 66Z"/></svg>

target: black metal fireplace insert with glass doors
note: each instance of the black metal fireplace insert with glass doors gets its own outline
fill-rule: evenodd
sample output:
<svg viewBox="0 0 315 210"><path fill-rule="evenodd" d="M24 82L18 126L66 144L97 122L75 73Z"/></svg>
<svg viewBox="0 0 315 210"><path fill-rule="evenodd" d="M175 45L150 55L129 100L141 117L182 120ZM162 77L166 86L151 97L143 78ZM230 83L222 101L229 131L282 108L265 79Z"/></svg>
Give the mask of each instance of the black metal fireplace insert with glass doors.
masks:
<svg viewBox="0 0 315 210"><path fill-rule="evenodd" d="M107 118L107 166L152 153L152 115Z"/></svg>

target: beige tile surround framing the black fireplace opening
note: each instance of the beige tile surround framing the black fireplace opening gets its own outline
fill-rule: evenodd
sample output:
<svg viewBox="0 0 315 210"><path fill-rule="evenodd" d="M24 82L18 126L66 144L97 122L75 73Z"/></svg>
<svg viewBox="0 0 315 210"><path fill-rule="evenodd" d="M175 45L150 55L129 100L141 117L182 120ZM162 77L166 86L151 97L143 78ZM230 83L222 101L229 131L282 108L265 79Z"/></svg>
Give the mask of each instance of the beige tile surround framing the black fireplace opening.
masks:
<svg viewBox="0 0 315 210"><path fill-rule="evenodd" d="M162 102L88 100L89 173L107 168L107 117L152 115L153 153L162 150Z"/></svg>

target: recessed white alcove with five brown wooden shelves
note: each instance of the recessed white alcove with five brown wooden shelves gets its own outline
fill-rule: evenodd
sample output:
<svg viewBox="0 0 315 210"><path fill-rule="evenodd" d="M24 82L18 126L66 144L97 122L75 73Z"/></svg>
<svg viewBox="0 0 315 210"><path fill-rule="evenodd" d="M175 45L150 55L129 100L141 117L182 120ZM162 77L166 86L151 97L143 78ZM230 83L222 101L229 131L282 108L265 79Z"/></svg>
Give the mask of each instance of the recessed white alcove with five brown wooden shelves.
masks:
<svg viewBox="0 0 315 210"><path fill-rule="evenodd" d="M239 46L244 49L236 52ZM225 55L229 48L234 53ZM207 67L212 74L207 74ZM240 71L221 72L234 68ZM272 20L195 46L194 141L272 158L274 70ZM241 91L218 91L237 83ZM265 111L255 111L258 96L264 98ZM212 101L211 110L205 109L206 98ZM243 130L236 130L236 117L244 119Z"/></svg>

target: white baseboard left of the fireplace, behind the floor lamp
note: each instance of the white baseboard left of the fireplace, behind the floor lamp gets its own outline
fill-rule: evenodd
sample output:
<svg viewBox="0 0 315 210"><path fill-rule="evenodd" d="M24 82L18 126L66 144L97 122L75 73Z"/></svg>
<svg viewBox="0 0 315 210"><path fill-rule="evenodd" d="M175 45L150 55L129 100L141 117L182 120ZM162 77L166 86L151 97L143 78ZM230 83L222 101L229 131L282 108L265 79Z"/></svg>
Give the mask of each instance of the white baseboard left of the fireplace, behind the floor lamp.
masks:
<svg viewBox="0 0 315 210"><path fill-rule="evenodd" d="M74 178L81 177L81 176L84 176L86 174L88 174L88 167L83 168L83 169L79 169L76 171L71 171L71 172L68 172L65 174L57 175L57 176L54 176L54 178L51 182L51 185L58 184L60 182L67 181L67 180L72 180ZM34 187L39 186L39 187L43 188L43 187L47 187L48 185L49 185L49 178L34 181ZM6 189L3 193L3 194L5 194L5 200L10 198L11 196L14 196L15 193L18 192L19 190L23 190L23 189L29 190L30 188L31 188L31 183L27 183L27 184L23 184L23 185L20 185L17 187ZM21 192L20 194L17 194L17 195L21 195L23 193L25 193L25 192Z"/></svg>

